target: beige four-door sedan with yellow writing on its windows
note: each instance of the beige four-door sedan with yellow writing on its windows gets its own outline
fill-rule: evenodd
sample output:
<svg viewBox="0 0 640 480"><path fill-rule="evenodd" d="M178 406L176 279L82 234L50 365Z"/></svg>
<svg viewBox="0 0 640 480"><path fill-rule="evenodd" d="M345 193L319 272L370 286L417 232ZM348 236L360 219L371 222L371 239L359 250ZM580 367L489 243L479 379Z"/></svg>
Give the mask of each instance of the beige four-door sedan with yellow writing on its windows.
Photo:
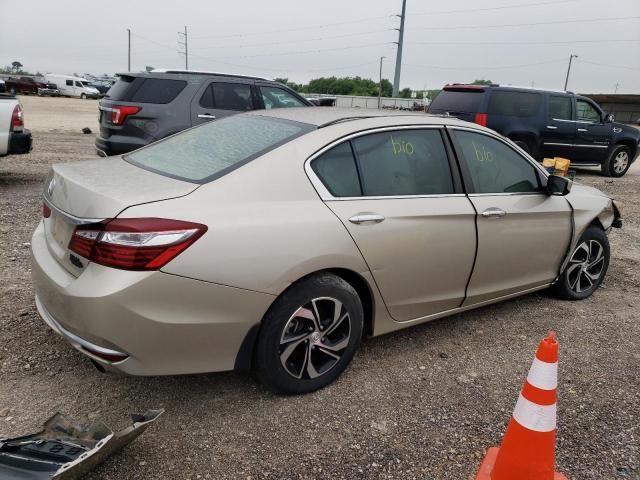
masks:
<svg viewBox="0 0 640 480"><path fill-rule="evenodd" d="M32 243L44 321L100 368L335 380L381 335L553 285L589 297L619 206L493 131L299 108L54 165Z"/></svg>

